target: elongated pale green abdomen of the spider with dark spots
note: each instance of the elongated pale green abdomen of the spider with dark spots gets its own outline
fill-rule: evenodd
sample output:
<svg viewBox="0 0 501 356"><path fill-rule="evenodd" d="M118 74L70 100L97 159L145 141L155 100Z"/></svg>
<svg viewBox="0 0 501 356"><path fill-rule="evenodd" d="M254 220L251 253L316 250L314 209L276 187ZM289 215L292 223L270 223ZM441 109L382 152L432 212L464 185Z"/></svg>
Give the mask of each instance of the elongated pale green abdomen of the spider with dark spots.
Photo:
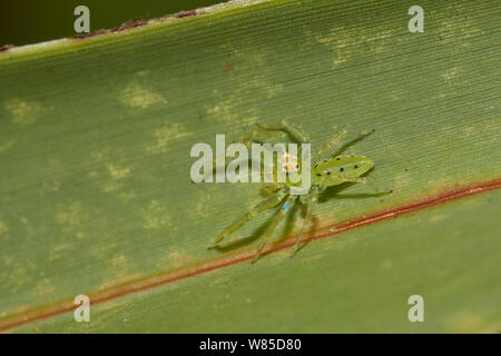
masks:
<svg viewBox="0 0 501 356"><path fill-rule="evenodd" d="M312 178L320 186L337 186L350 178L361 177L372 167L373 161L364 156L340 156L314 165Z"/></svg>

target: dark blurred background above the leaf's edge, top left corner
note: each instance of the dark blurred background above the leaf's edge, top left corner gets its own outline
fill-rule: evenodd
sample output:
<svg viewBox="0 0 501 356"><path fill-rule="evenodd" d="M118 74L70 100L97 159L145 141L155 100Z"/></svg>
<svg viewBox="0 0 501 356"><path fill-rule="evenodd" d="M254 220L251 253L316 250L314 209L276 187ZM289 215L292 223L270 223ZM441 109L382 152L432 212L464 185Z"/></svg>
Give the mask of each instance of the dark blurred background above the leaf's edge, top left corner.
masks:
<svg viewBox="0 0 501 356"><path fill-rule="evenodd" d="M0 46L29 44L75 34L73 10L87 6L90 31L117 27L134 18L157 18L225 0L19 0L0 1Z"/></svg>

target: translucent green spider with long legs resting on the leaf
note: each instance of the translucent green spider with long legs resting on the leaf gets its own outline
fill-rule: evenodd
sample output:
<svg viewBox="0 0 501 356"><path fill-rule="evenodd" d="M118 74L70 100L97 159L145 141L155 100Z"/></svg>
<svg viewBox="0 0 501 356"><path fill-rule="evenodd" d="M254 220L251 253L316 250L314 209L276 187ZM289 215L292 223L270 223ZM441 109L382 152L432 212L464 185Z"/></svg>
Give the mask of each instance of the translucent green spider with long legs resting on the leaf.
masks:
<svg viewBox="0 0 501 356"><path fill-rule="evenodd" d="M252 142L255 144L275 144L277 141L286 141L291 138L296 144L310 144L310 138L307 135L296 126L293 126L285 120L282 120L277 125L265 125L262 122L256 123L259 130L252 131L247 138L244 139L244 144L249 147ZM311 169L311 188L305 195L292 195L291 189L297 184L293 184L288 178L286 182L277 182L276 180L276 165L274 165L274 180L272 184L266 185L263 188L263 192L267 196L267 198L259 204L252 207L246 215L240 217L234 224L229 225L216 240L208 248L218 247L219 243L239 229L248 220L257 216L259 212L263 212L267 209L275 208L281 205L281 208L277 209L275 215L273 216L268 227L263 234L262 239L256 249L256 254L254 256L253 263L255 263L261 255L264 246L268 237L273 234L275 228L282 221L284 216L288 210L295 205L296 200L299 198L302 204L306 205L306 215L301 228L299 234L297 235L296 241L294 244L294 248L291 253L291 257L294 257L297 253L297 249L301 247L301 241L303 235L306 230L306 227L312 220L313 208L315 204L318 201L318 195L322 194L327 187L337 186L344 182L366 182L367 179L362 177L369 170L374 167L374 162L364 157L364 156L340 156L348 146L362 140L374 132L373 130L362 132L360 136L352 141L341 146L341 148L331 155L327 159L322 159L322 155L328 151L332 147L338 144L345 136L346 130L337 134L333 139L325 142L322 147L316 150L316 156L312 155L312 160L315 161L313 169ZM299 145L301 147L301 145ZM301 150L297 156L291 157L289 154L286 154L288 158L287 164L282 167L284 171L286 171L287 177L295 172L298 172L302 166L301 161ZM292 159L291 159L292 158ZM372 185L370 185L372 187ZM376 192L380 192L377 188L372 187ZM392 190L384 191L383 194L390 194Z"/></svg>

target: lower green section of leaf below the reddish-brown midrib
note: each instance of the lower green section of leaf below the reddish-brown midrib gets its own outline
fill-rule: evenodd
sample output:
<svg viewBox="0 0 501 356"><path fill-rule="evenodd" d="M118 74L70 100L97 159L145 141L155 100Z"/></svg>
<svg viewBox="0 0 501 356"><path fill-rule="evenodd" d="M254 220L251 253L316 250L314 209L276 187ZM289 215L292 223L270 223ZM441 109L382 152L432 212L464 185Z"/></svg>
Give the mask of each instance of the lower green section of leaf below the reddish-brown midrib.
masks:
<svg viewBox="0 0 501 356"><path fill-rule="evenodd" d="M501 191L236 264L18 332L497 333ZM484 224L479 225L478 218ZM407 318L424 299L424 323Z"/></svg>

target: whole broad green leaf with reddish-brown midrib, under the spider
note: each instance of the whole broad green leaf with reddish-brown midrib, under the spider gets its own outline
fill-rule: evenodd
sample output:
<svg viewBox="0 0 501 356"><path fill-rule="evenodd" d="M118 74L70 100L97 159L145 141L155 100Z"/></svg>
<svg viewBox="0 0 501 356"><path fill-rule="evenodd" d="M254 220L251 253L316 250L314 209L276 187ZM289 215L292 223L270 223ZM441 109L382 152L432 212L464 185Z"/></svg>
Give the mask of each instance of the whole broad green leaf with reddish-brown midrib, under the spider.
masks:
<svg viewBox="0 0 501 356"><path fill-rule="evenodd" d="M420 6L423 33L389 0L239 1L1 52L0 329L498 332L499 19L493 1ZM314 148L375 128L347 154L394 192L326 191L294 260L278 250L301 209L254 266L273 211L207 250L263 197L193 184L190 148L283 118Z"/></svg>

